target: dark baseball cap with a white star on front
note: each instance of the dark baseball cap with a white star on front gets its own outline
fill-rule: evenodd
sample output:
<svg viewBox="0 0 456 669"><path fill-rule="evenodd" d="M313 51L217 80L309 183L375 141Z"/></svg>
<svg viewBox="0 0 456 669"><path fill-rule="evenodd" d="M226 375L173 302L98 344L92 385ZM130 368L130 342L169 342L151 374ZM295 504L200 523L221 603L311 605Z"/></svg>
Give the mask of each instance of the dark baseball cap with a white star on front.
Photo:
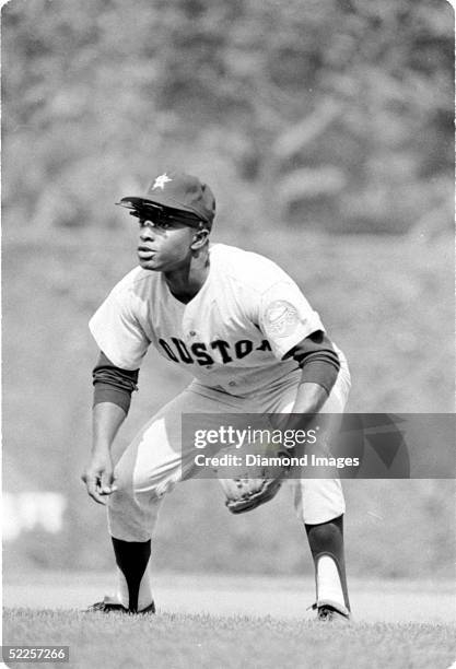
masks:
<svg viewBox="0 0 456 669"><path fill-rule="evenodd" d="M126 197L121 202L129 202L133 207L152 202L187 211L199 216L209 226L212 226L215 215L215 198L209 186L202 184L198 177L183 172L160 174L153 179L144 196Z"/></svg>

